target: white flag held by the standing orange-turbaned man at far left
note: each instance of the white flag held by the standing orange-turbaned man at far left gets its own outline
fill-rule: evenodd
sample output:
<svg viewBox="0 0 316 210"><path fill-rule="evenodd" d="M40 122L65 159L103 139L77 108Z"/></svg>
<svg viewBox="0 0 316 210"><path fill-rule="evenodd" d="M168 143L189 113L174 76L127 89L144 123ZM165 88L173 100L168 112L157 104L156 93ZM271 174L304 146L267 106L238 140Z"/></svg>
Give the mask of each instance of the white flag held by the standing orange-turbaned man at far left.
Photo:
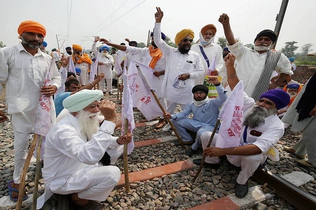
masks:
<svg viewBox="0 0 316 210"><path fill-rule="evenodd" d="M43 86L51 85L51 75L53 74L54 68L56 68L56 64L52 59ZM40 94L40 100L36 111L34 133L46 137L46 134L55 121L56 112L53 97L46 97L43 94Z"/></svg>

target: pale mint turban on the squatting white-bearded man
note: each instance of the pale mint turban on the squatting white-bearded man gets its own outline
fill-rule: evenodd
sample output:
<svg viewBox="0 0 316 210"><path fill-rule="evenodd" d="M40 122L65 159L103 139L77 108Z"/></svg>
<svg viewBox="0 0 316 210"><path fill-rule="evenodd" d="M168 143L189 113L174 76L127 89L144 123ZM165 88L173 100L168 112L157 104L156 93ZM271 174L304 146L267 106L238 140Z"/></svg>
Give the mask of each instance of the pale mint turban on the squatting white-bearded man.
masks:
<svg viewBox="0 0 316 210"><path fill-rule="evenodd" d="M70 112L84 109L95 101L100 101L103 97L101 90L81 90L74 95L67 97L63 101L63 106Z"/></svg>

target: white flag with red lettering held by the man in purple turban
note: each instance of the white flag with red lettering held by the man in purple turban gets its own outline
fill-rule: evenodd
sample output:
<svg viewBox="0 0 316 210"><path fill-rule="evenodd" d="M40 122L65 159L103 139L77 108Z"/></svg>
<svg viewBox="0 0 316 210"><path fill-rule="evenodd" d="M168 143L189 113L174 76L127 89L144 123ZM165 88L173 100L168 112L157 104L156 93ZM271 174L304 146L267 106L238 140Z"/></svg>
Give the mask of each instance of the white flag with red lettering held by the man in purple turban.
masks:
<svg viewBox="0 0 316 210"><path fill-rule="evenodd" d="M239 146L243 117L243 84L239 81L224 103L218 118L221 127L218 132L216 147Z"/></svg>

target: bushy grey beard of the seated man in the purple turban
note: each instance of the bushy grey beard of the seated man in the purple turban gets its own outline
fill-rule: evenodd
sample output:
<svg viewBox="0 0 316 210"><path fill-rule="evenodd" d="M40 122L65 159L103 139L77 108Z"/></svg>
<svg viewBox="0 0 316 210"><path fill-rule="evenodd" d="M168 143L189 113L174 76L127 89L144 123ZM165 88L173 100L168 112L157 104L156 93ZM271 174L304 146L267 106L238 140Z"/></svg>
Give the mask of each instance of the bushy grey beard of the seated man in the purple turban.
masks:
<svg viewBox="0 0 316 210"><path fill-rule="evenodd" d="M264 122L266 117L275 114L276 111L276 108L267 109L263 106L253 105L252 109L245 117L243 124L250 128L255 128L260 123Z"/></svg>

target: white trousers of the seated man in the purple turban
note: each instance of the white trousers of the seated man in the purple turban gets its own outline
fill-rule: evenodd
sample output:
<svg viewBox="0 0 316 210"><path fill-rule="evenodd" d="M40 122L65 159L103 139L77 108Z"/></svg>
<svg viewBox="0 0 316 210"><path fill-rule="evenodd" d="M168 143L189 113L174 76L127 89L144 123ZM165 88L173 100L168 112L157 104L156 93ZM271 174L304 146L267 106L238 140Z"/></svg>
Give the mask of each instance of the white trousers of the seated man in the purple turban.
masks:
<svg viewBox="0 0 316 210"><path fill-rule="evenodd" d="M204 132L201 135L201 142L203 150L206 148L208 141L210 140L210 137L212 135L212 132ZM217 139L217 134L214 135L214 138L211 143L211 147L215 146ZM253 173L257 170L260 164L263 164L266 161L266 155L264 154L257 154L257 155L248 155L248 156L242 156L242 155L227 155L227 160L239 167L241 166L241 172L239 172L239 175L237 177L237 183L238 184L245 184L246 181L250 176L253 175ZM206 163L219 163L219 157L206 157L205 162Z"/></svg>

